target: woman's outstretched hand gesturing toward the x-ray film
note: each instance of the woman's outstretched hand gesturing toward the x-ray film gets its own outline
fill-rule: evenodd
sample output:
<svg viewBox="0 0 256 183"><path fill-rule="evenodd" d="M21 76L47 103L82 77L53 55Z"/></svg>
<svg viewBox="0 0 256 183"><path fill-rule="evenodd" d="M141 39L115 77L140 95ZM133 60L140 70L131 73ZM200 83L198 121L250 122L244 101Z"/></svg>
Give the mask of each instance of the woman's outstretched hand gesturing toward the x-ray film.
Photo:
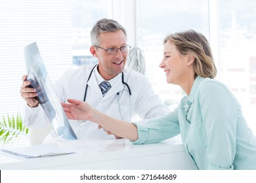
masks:
<svg viewBox="0 0 256 183"><path fill-rule="evenodd" d="M69 103L61 103L66 116L70 120L91 120L94 109L83 101L68 99Z"/></svg>

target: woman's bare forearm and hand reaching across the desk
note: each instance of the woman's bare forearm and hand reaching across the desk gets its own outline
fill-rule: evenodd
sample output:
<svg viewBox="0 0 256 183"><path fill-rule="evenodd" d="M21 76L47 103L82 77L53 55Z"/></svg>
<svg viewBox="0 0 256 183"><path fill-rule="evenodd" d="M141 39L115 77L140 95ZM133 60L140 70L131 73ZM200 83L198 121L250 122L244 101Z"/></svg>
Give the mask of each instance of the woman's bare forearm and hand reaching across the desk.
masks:
<svg viewBox="0 0 256 183"><path fill-rule="evenodd" d="M75 99L68 99L68 103L62 103L66 116L71 120L89 120L110 131L119 137L136 141L138 137L137 127L134 124L117 120L99 112L88 103Z"/></svg>

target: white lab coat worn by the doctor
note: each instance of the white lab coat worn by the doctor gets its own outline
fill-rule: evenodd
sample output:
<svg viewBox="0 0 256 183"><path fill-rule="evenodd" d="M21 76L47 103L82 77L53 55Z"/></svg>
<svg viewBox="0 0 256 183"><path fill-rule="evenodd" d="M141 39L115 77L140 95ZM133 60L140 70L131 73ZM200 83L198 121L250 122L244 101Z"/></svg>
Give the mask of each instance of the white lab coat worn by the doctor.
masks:
<svg viewBox="0 0 256 183"><path fill-rule="evenodd" d="M54 90L60 101L66 102L67 99L83 101L85 87L92 68L93 66L91 65L81 66L77 69L71 69L62 75L54 84ZM163 105L146 76L131 69L125 69L123 75L124 81L131 89L131 98L129 97L127 86L121 82L121 76L116 84L102 97L93 72L88 81L85 101L104 114L127 121L132 120L133 116L136 115L145 120L160 117L169 112L169 108ZM120 93L119 102L118 92ZM24 124L30 128L45 127L49 124L49 120L40 105L37 108L30 108L26 105ZM78 124L77 121L70 120L70 124L78 139L95 139L108 136L102 129L99 130L98 125L93 122L87 121L83 124Z"/></svg>

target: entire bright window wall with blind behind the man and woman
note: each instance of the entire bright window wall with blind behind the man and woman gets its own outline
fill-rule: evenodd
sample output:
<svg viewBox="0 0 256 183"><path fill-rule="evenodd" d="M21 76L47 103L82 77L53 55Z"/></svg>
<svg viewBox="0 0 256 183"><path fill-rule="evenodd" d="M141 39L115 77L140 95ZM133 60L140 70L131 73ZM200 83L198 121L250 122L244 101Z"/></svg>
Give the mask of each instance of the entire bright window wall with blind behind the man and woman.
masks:
<svg viewBox="0 0 256 183"><path fill-rule="evenodd" d="M91 28L100 18L114 18L127 29L129 44L144 51L146 75L170 108L184 93L178 86L167 84L158 67L163 37L186 29L203 33L214 48L217 79L236 95L256 131L254 7L253 0L1 0L0 117L16 114L24 105L19 93L21 77L26 74L24 46L37 42L54 82L72 63L95 63L89 52Z"/></svg>

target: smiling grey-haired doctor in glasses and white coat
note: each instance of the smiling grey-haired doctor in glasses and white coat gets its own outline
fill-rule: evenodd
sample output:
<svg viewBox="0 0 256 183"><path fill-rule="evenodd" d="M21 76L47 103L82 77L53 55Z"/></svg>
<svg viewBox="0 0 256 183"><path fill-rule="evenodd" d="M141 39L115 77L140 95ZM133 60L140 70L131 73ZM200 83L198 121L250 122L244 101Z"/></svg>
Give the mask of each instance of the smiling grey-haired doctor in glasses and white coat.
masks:
<svg viewBox="0 0 256 183"><path fill-rule="evenodd" d="M91 30L91 44L91 54L98 64L71 69L62 75L54 84L61 102L70 98L86 101L100 112L127 122L137 115L150 119L169 112L146 76L124 69L131 47L122 25L116 20L98 20ZM24 124L30 128L46 127L49 120L34 98L36 90L27 87L30 82L26 75L22 81L20 93L27 103ZM92 122L70 120L70 124L78 139L109 137Z"/></svg>

